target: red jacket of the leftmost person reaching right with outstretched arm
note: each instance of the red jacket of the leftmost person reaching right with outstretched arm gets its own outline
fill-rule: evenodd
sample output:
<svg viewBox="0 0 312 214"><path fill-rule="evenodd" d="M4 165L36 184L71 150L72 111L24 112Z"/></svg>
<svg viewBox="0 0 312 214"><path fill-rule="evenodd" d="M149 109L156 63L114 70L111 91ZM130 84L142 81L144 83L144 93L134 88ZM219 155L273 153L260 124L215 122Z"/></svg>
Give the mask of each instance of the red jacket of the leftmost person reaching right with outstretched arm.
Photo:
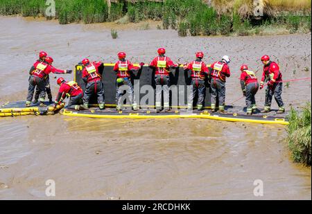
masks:
<svg viewBox="0 0 312 214"><path fill-rule="evenodd" d="M51 64L46 62L37 61L33 64L29 74L36 76L38 78L45 78L49 73L66 73L65 70L55 69Z"/></svg>

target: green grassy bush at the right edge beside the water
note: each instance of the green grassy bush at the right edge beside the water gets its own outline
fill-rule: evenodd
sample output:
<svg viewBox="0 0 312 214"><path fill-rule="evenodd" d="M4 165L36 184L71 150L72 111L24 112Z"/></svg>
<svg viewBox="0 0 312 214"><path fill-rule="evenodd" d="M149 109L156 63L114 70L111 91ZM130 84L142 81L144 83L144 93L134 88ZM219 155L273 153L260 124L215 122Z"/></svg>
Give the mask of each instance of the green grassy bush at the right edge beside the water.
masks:
<svg viewBox="0 0 312 214"><path fill-rule="evenodd" d="M288 125L288 146L296 162L311 166L311 102L299 113L291 108Z"/></svg>

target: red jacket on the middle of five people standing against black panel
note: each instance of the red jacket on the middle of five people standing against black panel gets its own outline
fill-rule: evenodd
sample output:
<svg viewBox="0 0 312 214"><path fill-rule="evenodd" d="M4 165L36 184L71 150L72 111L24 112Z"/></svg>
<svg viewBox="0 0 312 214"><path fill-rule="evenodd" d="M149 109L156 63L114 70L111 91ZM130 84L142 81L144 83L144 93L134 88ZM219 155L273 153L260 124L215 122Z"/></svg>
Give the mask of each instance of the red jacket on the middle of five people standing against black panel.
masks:
<svg viewBox="0 0 312 214"><path fill-rule="evenodd" d="M172 62L170 57L164 55L155 57L150 66L155 67L155 75L169 75L170 67L175 67L176 64Z"/></svg>

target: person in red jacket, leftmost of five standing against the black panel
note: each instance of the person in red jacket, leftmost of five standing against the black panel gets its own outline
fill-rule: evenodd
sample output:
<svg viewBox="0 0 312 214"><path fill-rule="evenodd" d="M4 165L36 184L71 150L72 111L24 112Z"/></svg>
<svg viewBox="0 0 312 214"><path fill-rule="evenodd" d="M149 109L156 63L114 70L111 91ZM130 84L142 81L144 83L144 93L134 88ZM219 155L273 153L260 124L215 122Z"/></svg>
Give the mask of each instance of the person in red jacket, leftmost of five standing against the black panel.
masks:
<svg viewBox="0 0 312 214"><path fill-rule="evenodd" d="M98 70L98 67L103 66L103 62L90 62L88 59L84 59L83 65L85 66L83 69L83 81L86 83L83 106L87 109L91 96L95 94L98 98L98 107L103 110L105 109L104 85L102 73Z"/></svg>

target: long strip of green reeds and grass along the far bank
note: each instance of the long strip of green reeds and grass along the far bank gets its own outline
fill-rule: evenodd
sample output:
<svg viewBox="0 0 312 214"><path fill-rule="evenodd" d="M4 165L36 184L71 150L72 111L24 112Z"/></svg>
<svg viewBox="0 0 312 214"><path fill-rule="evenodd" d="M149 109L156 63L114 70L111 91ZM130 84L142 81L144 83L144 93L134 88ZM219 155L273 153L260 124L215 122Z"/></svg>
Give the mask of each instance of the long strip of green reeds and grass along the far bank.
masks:
<svg viewBox="0 0 312 214"><path fill-rule="evenodd" d="M44 16L45 2L46 0L0 0L0 15ZM119 1L112 3L110 9L105 0L55 0L55 18L60 24L78 21L89 24L116 20L120 20L116 23L162 20L164 29L175 29L182 37L262 35L275 28L284 28L288 33L311 32L311 1L262 2L265 7L264 16L255 19L252 0L212 0L211 7L202 0ZM301 14L291 11L300 11Z"/></svg>

